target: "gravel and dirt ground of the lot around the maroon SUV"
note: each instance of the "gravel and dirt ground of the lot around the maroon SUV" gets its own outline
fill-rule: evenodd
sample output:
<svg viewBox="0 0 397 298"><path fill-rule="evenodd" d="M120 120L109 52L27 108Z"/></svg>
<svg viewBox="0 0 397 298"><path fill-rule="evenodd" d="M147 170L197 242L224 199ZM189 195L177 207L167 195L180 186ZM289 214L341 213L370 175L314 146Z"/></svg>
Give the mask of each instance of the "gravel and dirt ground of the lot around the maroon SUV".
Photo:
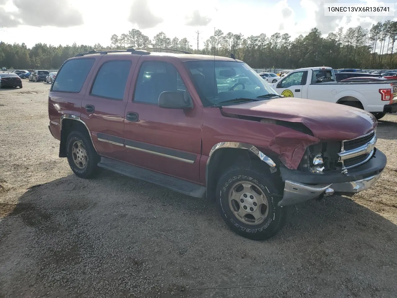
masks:
<svg viewBox="0 0 397 298"><path fill-rule="evenodd" d="M0 90L0 298L396 297L396 115L378 126L374 188L299 205L255 242L205 199L76 178L47 128L49 87Z"/></svg>

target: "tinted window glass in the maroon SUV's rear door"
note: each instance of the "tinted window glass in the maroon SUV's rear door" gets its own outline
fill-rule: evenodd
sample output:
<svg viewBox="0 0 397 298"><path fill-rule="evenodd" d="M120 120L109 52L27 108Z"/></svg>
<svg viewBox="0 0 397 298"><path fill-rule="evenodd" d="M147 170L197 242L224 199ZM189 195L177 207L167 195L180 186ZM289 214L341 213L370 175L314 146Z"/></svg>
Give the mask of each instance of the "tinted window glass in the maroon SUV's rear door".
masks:
<svg viewBox="0 0 397 298"><path fill-rule="evenodd" d="M122 101L131 60L105 62L96 75L91 95Z"/></svg>

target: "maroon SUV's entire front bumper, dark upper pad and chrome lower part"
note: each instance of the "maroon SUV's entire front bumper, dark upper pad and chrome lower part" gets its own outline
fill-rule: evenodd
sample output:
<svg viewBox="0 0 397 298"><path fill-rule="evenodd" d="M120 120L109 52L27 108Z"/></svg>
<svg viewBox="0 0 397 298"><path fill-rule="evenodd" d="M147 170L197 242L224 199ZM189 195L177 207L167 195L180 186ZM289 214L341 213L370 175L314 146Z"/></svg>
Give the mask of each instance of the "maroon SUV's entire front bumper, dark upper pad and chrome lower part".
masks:
<svg viewBox="0 0 397 298"><path fill-rule="evenodd" d="M293 205L333 194L353 195L372 187L386 166L386 156L377 150L365 164L342 173L306 173L280 168L285 182L279 206Z"/></svg>

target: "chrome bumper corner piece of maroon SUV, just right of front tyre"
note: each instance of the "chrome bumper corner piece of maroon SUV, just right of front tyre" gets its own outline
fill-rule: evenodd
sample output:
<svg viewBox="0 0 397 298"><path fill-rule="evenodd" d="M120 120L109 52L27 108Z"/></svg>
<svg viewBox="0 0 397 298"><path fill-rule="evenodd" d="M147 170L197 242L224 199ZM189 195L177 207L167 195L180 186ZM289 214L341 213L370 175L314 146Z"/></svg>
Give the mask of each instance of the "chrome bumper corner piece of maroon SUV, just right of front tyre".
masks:
<svg viewBox="0 0 397 298"><path fill-rule="evenodd" d="M320 195L333 195L332 184L308 185L299 182L285 180L283 199L278 202L279 206L303 203L319 197Z"/></svg>

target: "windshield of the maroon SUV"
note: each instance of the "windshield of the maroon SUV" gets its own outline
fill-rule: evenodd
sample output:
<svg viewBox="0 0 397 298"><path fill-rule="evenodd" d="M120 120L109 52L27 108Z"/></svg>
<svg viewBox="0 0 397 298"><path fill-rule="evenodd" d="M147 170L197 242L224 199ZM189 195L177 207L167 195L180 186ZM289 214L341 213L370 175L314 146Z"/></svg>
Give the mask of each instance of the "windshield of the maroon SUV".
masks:
<svg viewBox="0 0 397 298"><path fill-rule="evenodd" d="M254 100L261 95L277 94L245 63L208 60L184 63L204 106L221 102L227 104L227 101L239 98Z"/></svg>

